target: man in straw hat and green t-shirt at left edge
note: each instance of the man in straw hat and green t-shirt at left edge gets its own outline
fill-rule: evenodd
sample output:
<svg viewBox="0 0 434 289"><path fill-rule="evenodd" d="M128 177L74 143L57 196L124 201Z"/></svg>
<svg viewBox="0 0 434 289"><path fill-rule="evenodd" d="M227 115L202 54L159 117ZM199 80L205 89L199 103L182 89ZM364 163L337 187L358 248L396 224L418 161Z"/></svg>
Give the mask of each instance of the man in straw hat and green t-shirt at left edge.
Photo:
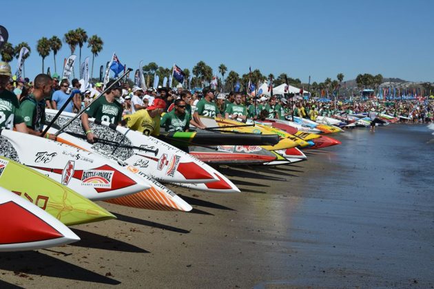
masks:
<svg viewBox="0 0 434 289"><path fill-rule="evenodd" d="M24 120L19 115L18 98L6 89L12 81L11 76L10 65L0 62L0 129L17 129L27 133Z"/></svg>

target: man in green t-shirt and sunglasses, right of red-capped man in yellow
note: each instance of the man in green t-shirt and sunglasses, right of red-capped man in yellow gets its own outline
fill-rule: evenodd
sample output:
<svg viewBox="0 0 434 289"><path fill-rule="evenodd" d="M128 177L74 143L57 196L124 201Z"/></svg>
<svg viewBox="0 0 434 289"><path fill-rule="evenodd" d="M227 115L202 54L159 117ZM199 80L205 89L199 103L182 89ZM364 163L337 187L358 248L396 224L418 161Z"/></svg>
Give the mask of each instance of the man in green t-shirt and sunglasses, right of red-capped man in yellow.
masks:
<svg viewBox="0 0 434 289"><path fill-rule="evenodd" d="M186 107L184 100L175 100L174 109L161 118L161 127L164 127L166 131L189 131L192 116L186 111Z"/></svg>

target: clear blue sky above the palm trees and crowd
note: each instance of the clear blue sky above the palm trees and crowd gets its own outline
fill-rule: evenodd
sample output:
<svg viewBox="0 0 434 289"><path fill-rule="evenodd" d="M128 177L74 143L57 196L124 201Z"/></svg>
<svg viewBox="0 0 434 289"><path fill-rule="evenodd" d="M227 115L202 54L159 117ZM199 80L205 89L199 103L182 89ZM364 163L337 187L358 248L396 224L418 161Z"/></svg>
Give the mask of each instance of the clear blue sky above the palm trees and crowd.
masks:
<svg viewBox="0 0 434 289"><path fill-rule="evenodd" d="M22 4L22 5L21 5ZM13 45L28 42L30 78L41 72L37 40L83 28L99 35L99 66L116 52L121 63L139 61L192 67L220 63L239 74L287 73L307 82L359 73L434 82L434 1L13 1L2 3L0 25ZM9 6L9 7L8 7ZM21 9L20 6L23 8ZM6 13L9 10L10 13ZM78 55L78 49L76 50ZM63 43L57 71L70 49ZM87 44L82 61L91 56ZM17 61L12 61L15 70ZM53 56L45 67L54 72ZM78 70L76 69L76 72Z"/></svg>

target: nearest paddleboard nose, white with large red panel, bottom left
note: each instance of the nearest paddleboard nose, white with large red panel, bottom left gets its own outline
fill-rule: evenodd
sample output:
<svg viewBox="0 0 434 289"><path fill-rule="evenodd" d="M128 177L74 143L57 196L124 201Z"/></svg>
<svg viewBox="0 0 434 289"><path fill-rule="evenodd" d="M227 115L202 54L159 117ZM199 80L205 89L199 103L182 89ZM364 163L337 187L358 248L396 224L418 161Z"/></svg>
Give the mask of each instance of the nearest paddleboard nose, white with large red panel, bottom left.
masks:
<svg viewBox="0 0 434 289"><path fill-rule="evenodd" d="M0 187L0 252L35 250L79 241L38 206Z"/></svg>

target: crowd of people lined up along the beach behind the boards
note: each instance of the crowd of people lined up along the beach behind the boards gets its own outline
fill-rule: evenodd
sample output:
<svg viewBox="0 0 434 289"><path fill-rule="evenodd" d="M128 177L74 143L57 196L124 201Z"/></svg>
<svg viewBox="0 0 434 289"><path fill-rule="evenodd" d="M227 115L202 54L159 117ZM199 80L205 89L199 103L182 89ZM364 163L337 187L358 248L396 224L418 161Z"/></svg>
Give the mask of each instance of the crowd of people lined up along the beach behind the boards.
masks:
<svg viewBox="0 0 434 289"><path fill-rule="evenodd" d="M0 127L41 135L45 122L45 109L63 109L81 115L83 129L89 142L94 134L89 118L96 118L116 125L130 127L147 135L158 136L161 127L165 131L188 131L190 125L199 129L206 126L200 116L221 117L245 122L251 118L289 119L293 117L316 120L318 116L369 113L378 111L391 116L404 116L402 120L430 122L433 120L433 103L393 102L376 100L363 102L323 103L314 99L289 96L252 97L241 92L217 93L213 89L190 92L182 87L169 89L142 89L125 83L110 81L103 93L103 83L95 83L90 89L81 89L82 82L59 79L59 76L39 74L34 81L28 78L14 79L8 63L0 63ZM163 115L163 116L162 116ZM45 138L54 139L50 133Z"/></svg>

